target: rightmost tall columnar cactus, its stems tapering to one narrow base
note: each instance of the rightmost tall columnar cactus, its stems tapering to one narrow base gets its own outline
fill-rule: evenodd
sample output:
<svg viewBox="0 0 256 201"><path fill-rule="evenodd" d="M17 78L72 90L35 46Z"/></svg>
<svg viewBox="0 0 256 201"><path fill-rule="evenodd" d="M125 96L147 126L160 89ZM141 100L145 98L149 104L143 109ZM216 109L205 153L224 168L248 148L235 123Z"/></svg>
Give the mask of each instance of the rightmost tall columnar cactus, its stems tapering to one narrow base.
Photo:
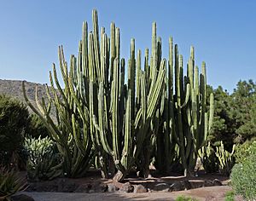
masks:
<svg viewBox="0 0 256 201"><path fill-rule="evenodd" d="M182 159L184 175L189 175L195 168L198 150L204 145L212 128L213 95L210 98L210 111L206 111L206 65L203 62L199 78L198 67L195 66L194 48L190 49L187 76L183 77L183 57L178 54L177 45L175 58L175 95L174 112L175 132ZM175 114L174 114L175 116Z"/></svg>

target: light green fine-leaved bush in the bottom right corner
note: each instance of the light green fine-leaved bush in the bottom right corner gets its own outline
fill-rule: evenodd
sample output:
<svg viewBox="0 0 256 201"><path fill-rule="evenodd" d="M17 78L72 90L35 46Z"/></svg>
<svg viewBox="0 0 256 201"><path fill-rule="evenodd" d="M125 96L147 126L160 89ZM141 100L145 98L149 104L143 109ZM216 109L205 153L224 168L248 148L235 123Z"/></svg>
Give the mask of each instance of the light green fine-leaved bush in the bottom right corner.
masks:
<svg viewBox="0 0 256 201"><path fill-rule="evenodd" d="M236 194L247 200L256 198L256 155L251 154L241 164L236 164L230 179Z"/></svg>

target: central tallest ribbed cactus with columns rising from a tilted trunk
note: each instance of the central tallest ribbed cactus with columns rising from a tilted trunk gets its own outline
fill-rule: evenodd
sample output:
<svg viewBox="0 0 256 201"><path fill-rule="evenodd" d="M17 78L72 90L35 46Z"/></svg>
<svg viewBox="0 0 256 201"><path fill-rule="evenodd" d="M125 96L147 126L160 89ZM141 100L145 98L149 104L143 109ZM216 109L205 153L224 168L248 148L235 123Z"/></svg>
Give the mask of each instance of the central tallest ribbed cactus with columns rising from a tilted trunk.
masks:
<svg viewBox="0 0 256 201"><path fill-rule="evenodd" d="M107 36L104 28L99 36L97 23L97 14L94 10L93 32L87 34L85 23L81 42L82 59L79 59L79 63L81 66L88 64L88 74L83 75L87 80L87 83L84 83L87 94L83 94L83 97L85 96L84 100L88 103L91 140L97 150L106 152L113 158L119 170L114 179L119 181L129 173L132 165L141 156L145 139L150 139L152 132L149 123L160 104L161 90L165 83L166 61L162 60L160 64L160 57L155 55L160 47L157 45L154 23L153 70L149 70L151 67L148 66L148 60L144 65L147 66L147 71L150 71L152 81L149 82L142 70L140 50L136 59L135 39L132 38L126 85L125 60L120 59L119 28L112 23L111 36ZM89 39L85 38L86 36ZM87 44L88 51L84 49ZM148 169L148 163L143 165L144 169Z"/></svg>

